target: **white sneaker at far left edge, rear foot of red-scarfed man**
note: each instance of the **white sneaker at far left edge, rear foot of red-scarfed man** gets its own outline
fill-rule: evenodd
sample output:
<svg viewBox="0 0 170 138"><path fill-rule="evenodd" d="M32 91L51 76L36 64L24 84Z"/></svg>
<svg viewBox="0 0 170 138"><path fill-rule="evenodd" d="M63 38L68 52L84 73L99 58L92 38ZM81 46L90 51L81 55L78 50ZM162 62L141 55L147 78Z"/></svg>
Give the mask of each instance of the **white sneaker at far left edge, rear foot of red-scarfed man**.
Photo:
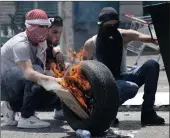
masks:
<svg viewBox="0 0 170 138"><path fill-rule="evenodd" d="M4 125L7 126L17 125L17 121L15 120L15 113L14 111L12 111L7 101L3 101L3 103L1 104L1 112L5 122Z"/></svg>

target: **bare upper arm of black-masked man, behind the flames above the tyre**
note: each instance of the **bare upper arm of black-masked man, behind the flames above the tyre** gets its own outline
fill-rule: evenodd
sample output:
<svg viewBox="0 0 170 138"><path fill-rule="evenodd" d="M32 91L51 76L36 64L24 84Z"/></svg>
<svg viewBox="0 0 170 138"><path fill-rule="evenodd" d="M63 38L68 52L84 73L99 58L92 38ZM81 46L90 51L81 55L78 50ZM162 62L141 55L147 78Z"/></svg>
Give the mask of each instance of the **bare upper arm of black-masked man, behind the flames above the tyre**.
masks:
<svg viewBox="0 0 170 138"><path fill-rule="evenodd" d="M93 56L94 53L94 44L92 38L88 39L83 47L83 60L88 60Z"/></svg>

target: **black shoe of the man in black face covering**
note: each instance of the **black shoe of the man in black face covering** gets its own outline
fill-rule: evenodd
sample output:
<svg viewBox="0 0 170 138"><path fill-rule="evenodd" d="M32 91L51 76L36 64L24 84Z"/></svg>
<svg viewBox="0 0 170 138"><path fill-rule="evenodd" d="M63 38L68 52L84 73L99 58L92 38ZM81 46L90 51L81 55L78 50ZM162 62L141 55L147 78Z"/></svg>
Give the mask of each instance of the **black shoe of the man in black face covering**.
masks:
<svg viewBox="0 0 170 138"><path fill-rule="evenodd" d="M141 114L141 124L145 125L163 125L165 120L158 116L154 110L152 111L142 111Z"/></svg>

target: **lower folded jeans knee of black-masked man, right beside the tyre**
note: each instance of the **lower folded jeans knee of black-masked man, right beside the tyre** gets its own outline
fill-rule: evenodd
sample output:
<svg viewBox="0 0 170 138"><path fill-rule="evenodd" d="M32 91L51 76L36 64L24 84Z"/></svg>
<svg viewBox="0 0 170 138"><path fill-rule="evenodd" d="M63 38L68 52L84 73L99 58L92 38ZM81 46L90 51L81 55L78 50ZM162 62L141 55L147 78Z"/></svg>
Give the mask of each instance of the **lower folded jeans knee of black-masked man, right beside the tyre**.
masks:
<svg viewBox="0 0 170 138"><path fill-rule="evenodd" d="M120 105L135 97L139 89L138 85L130 81L117 80L116 84L119 90Z"/></svg>

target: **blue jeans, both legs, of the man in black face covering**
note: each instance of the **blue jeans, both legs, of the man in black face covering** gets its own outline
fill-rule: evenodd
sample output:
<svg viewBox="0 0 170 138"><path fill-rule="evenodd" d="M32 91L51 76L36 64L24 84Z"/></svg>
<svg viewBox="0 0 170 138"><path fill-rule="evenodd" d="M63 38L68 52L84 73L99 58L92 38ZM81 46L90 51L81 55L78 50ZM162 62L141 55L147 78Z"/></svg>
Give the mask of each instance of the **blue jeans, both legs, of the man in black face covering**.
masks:
<svg viewBox="0 0 170 138"><path fill-rule="evenodd" d="M143 110L152 110L155 103L155 94L159 78L159 64L155 60L148 60L132 72L122 74L117 81L120 90L120 105L133 98L138 88L144 85Z"/></svg>

